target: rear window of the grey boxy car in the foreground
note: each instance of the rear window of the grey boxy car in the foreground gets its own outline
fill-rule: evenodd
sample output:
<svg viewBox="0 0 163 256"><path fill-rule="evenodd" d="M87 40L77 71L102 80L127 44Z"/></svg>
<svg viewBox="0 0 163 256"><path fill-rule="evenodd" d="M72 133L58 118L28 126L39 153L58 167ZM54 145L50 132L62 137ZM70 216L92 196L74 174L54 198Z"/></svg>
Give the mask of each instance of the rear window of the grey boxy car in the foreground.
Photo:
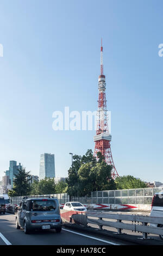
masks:
<svg viewBox="0 0 163 256"><path fill-rule="evenodd" d="M54 200L31 200L29 211L54 211L56 204Z"/></svg>

